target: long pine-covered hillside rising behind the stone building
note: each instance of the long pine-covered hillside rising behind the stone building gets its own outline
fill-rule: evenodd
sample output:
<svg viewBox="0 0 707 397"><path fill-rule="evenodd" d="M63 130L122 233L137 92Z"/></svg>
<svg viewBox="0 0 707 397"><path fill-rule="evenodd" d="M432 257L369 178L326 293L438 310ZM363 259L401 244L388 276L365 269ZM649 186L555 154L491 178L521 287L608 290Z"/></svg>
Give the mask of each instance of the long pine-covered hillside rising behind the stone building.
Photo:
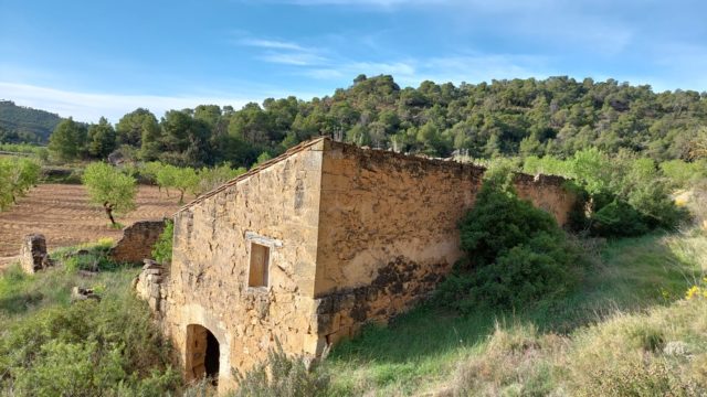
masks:
<svg viewBox="0 0 707 397"><path fill-rule="evenodd" d="M350 87L312 100L268 98L240 110L202 105L160 120L139 108L120 119L115 135L105 120L93 133L70 124L53 138L65 147L63 157L101 158L124 144L144 160L189 165L250 165L262 152L277 154L319 135L435 157L458 150L475 158L564 158L595 147L662 161L687 158L692 139L707 126L707 93L658 94L568 77L401 88L391 76L360 75Z"/></svg>

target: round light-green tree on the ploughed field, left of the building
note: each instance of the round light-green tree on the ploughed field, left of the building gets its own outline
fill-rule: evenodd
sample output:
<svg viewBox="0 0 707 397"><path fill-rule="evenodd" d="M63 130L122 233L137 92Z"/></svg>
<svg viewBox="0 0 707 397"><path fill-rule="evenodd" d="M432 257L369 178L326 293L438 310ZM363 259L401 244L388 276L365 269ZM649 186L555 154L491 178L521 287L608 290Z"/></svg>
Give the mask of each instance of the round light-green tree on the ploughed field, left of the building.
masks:
<svg viewBox="0 0 707 397"><path fill-rule="evenodd" d="M88 165L82 180L91 202L103 206L113 226L117 225L114 213L124 214L135 208L135 178L101 162Z"/></svg>

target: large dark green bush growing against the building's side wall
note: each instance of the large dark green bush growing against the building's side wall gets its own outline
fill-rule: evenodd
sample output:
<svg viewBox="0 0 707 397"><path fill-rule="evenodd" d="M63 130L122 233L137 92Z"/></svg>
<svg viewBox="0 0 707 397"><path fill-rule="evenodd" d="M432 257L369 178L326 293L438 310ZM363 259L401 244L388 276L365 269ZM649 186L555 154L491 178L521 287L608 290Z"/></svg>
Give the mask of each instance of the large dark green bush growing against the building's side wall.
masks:
<svg viewBox="0 0 707 397"><path fill-rule="evenodd" d="M439 287L436 302L468 312L553 299L579 280L579 251L548 213L493 176L460 222L465 257Z"/></svg>

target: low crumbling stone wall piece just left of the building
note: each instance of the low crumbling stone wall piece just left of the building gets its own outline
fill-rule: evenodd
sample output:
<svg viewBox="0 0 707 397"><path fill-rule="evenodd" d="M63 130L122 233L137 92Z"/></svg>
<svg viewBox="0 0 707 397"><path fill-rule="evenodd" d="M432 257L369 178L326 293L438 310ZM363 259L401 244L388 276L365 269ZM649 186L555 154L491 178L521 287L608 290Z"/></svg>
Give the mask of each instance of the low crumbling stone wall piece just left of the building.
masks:
<svg viewBox="0 0 707 397"><path fill-rule="evenodd" d="M123 237L110 248L118 262L140 264L152 257L152 247L165 230L165 221L139 221L123 229Z"/></svg>

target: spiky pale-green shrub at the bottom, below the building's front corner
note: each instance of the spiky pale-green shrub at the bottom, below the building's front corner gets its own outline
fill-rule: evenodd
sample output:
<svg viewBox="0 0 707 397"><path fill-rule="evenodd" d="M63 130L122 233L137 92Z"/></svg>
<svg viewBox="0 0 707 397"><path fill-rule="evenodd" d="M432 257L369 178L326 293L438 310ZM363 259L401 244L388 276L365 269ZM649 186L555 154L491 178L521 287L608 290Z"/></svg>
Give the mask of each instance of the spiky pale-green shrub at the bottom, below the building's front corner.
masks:
<svg viewBox="0 0 707 397"><path fill-rule="evenodd" d="M310 372L300 356L288 356L279 342L267 360L242 374L234 371L239 384L233 397L309 397L327 396L328 376Z"/></svg>

